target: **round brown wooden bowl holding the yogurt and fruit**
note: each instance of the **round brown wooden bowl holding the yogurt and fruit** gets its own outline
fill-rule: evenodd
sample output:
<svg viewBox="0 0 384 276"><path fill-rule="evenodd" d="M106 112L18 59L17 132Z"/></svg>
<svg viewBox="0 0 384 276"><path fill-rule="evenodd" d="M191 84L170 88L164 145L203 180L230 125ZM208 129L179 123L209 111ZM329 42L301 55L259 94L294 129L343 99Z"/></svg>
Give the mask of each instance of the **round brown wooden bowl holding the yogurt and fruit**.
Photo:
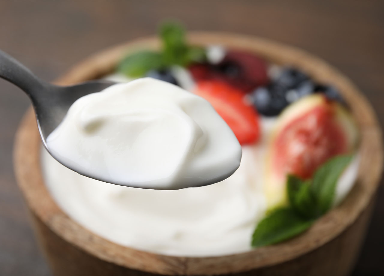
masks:
<svg viewBox="0 0 384 276"><path fill-rule="evenodd" d="M40 167L40 137L30 108L18 129L14 150L17 181L30 208L36 235L55 274L66 275L339 275L353 268L372 211L381 177L381 129L372 107L343 74L304 51L268 40L228 33L194 32L197 45L222 44L253 51L278 64L301 68L314 79L343 93L361 131L361 165L356 185L343 203L320 218L309 231L284 243L247 253L209 258L165 256L117 245L80 226L55 203ZM113 71L128 51L159 48L144 38L110 48L75 66L57 83L68 85Z"/></svg>

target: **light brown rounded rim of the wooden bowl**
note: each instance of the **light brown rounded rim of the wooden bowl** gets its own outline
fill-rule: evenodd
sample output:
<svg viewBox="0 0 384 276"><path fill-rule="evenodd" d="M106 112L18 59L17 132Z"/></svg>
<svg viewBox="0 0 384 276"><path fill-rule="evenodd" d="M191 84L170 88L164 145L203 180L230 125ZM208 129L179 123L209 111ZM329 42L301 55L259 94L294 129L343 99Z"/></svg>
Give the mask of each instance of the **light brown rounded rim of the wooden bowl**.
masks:
<svg viewBox="0 0 384 276"><path fill-rule="evenodd" d="M291 46L254 36L223 32L189 32L196 45L224 45L258 53L269 61L301 68L316 81L333 84L351 105L361 131L358 180L346 199L302 235L278 245L245 253L212 256L167 256L136 250L108 241L83 228L64 213L50 196L40 166L40 136L30 107L18 127L14 144L17 183L30 210L58 236L87 253L131 269L159 274L230 274L283 263L328 243L351 226L366 209L378 187L383 168L382 132L375 113L346 76L325 61ZM121 57L138 49L158 49L157 37L139 38L113 46L75 65L56 84L70 85L113 71Z"/></svg>

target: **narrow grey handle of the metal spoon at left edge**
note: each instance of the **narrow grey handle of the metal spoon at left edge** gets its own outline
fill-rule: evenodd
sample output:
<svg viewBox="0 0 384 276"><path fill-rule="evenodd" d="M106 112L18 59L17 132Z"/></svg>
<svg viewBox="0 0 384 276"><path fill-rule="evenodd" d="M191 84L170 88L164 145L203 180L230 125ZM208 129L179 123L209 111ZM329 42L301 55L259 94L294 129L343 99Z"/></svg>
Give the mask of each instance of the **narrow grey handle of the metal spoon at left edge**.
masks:
<svg viewBox="0 0 384 276"><path fill-rule="evenodd" d="M47 83L37 78L28 68L0 50L0 77L21 88L32 100Z"/></svg>

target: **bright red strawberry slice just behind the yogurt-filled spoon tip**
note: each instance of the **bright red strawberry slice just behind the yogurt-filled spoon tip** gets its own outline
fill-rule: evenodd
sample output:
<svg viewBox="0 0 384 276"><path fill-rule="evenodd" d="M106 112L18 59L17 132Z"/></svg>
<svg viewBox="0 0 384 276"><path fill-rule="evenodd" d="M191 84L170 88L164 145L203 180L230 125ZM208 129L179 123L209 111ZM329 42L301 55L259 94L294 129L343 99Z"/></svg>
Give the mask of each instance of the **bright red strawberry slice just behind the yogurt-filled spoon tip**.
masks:
<svg viewBox="0 0 384 276"><path fill-rule="evenodd" d="M194 93L212 104L240 144L252 144L259 139L258 114L245 103L242 91L222 81L210 80L199 81Z"/></svg>

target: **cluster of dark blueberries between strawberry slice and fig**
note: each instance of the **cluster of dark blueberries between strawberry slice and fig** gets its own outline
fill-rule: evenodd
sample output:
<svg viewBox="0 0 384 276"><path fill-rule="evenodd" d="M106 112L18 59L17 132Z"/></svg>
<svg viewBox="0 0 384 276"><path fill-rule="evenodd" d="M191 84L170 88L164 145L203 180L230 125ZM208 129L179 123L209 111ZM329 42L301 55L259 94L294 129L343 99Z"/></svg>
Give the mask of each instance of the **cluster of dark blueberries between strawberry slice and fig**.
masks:
<svg viewBox="0 0 384 276"><path fill-rule="evenodd" d="M266 87L259 87L252 93L253 104L264 116L276 116L298 99L312 94L314 84L310 78L294 68L283 68L276 79Z"/></svg>

